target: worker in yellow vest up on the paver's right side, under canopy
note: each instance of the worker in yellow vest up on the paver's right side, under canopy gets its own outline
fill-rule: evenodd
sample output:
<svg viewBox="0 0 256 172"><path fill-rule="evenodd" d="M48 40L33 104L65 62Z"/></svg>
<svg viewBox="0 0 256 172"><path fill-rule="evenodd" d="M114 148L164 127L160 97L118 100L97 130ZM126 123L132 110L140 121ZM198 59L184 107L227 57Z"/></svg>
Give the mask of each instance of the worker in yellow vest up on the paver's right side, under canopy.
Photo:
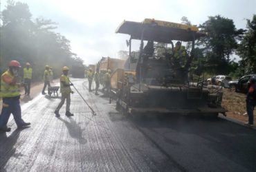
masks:
<svg viewBox="0 0 256 172"><path fill-rule="evenodd" d="M180 41L176 42L175 44L173 60L174 66L179 67L181 69L185 68L185 65L188 61L187 52L185 50L185 47L181 45Z"/></svg>

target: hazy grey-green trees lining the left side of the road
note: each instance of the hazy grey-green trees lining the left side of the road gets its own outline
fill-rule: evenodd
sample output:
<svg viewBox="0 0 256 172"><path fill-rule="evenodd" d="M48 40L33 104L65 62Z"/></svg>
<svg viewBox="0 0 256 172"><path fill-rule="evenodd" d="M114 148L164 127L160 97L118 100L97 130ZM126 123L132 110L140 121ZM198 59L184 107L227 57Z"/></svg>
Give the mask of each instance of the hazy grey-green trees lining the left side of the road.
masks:
<svg viewBox="0 0 256 172"><path fill-rule="evenodd" d="M33 80L41 80L44 66L53 67L55 77L63 66L81 66L83 61L71 52L70 41L54 32L55 22L38 18L33 21L26 3L8 1L1 17L1 67L11 60L33 67ZM82 65L83 66L83 65Z"/></svg>

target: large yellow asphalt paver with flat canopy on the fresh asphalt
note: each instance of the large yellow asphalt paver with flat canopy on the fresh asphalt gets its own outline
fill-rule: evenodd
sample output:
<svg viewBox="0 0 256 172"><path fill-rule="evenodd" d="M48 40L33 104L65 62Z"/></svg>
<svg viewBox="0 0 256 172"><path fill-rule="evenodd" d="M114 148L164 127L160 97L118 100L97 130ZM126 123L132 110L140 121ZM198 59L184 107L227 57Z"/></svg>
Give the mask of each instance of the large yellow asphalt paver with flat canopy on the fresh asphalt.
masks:
<svg viewBox="0 0 256 172"><path fill-rule="evenodd" d="M143 22L124 21L116 33L130 36L125 67L111 76L111 89L117 97L116 109L125 114L225 114L226 110L221 107L221 89L207 87L201 80L195 82L190 78L195 41L205 36L199 28L145 19ZM139 50L131 51L133 41L139 41ZM152 54L145 52L146 41L154 43ZM185 67L174 65L175 41L191 43Z"/></svg>

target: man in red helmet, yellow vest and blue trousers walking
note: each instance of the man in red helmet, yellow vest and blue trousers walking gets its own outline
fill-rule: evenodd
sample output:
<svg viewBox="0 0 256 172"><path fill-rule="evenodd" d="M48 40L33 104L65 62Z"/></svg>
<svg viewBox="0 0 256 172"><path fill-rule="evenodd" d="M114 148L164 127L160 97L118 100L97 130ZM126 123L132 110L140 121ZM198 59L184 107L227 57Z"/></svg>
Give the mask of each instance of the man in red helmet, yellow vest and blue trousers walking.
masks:
<svg viewBox="0 0 256 172"><path fill-rule="evenodd" d="M3 98L3 109L0 115L0 131L8 132L10 128L7 127L10 114L15 119L18 127L24 128L30 125L30 122L24 122L21 118L21 106L19 105L19 68L21 67L18 61L10 61L9 69L1 75L1 91L0 97Z"/></svg>

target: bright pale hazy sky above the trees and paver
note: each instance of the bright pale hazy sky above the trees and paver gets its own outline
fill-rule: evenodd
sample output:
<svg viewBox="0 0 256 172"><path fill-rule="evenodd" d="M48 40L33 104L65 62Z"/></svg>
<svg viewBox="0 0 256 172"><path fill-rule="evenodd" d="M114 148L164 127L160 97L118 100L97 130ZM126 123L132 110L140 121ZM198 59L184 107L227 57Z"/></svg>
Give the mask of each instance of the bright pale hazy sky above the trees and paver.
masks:
<svg viewBox="0 0 256 172"><path fill-rule="evenodd" d="M128 50L128 35L116 34L122 21L156 19L181 23L188 17L199 25L209 16L220 14L232 19L237 29L246 28L246 19L256 14L256 0L19 0L27 3L33 19L43 17L58 24L56 32L71 41L72 52L95 64L102 56L117 57L119 50ZM1 10L6 0L1 1Z"/></svg>

